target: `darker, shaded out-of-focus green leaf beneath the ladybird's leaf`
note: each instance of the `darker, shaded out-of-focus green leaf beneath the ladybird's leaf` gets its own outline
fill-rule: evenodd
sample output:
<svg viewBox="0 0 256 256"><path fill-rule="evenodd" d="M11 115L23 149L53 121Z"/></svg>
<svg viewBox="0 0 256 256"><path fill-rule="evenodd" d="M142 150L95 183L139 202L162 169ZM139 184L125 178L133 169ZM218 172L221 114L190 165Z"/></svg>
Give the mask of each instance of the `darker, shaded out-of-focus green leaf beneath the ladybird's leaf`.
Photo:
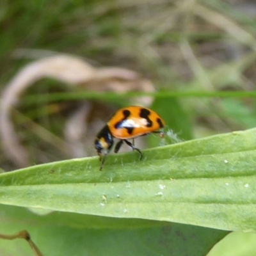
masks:
<svg viewBox="0 0 256 256"><path fill-rule="evenodd" d="M0 205L1 233L26 228L44 255L206 255L227 231L164 221L118 219L69 212L37 216ZM88 228L88 223L97 223ZM128 228L125 228L128 227ZM33 256L26 241L0 239L1 255Z"/></svg>

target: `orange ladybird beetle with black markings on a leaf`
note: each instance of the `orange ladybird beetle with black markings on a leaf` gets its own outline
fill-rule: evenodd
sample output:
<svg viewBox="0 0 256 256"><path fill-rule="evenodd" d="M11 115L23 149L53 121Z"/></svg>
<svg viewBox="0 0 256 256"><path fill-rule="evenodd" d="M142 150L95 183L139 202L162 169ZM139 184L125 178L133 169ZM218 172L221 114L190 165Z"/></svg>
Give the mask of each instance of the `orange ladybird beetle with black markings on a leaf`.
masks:
<svg viewBox="0 0 256 256"><path fill-rule="evenodd" d="M113 147L114 138L119 139L115 146L115 153L125 142L132 150L138 151L141 160L142 153L139 148L134 147L133 139L151 132L159 133L163 137L163 132L157 130L163 128L164 125L164 120L156 112L148 108L130 106L116 111L94 141L95 149L101 160L100 171L104 166L106 156ZM132 143L127 141L129 139L132 139ZM103 157L102 150L104 152Z"/></svg>

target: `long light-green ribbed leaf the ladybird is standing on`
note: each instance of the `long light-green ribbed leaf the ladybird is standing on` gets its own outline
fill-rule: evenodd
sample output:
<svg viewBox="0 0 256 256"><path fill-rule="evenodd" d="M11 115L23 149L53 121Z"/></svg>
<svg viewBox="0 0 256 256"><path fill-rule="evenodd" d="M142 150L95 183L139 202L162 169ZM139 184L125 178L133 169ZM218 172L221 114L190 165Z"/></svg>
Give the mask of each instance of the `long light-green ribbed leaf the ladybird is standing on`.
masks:
<svg viewBox="0 0 256 256"><path fill-rule="evenodd" d="M0 175L0 203L256 230L256 129Z"/></svg>

